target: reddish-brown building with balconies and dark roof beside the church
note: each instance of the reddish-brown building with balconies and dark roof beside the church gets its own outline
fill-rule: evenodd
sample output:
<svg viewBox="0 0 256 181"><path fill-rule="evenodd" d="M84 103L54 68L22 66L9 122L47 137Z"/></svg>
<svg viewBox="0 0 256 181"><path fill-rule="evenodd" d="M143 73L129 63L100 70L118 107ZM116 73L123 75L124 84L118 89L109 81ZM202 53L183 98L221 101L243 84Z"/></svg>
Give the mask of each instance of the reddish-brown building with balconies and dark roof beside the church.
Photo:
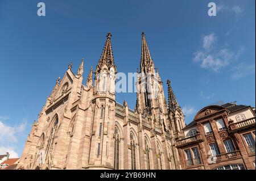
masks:
<svg viewBox="0 0 256 181"><path fill-rule="evenodd" d="M208 106L177 141L181 169L255 169L255 109L234 103Z"/></svg>

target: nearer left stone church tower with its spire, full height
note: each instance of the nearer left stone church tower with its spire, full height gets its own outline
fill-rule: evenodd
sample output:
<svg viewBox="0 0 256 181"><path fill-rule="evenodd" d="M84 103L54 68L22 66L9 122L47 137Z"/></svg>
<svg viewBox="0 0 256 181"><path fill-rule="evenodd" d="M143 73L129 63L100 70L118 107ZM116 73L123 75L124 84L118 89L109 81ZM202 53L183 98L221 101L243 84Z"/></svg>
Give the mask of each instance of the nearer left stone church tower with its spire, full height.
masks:
<svg viewBox="0 0 256 181"><path fill-rule="evenodd" d="M89 147L89 165L93 169L113 169L115 74L111 34L108 33L101 58L96 67L92 99L92 137Z"/></svg>

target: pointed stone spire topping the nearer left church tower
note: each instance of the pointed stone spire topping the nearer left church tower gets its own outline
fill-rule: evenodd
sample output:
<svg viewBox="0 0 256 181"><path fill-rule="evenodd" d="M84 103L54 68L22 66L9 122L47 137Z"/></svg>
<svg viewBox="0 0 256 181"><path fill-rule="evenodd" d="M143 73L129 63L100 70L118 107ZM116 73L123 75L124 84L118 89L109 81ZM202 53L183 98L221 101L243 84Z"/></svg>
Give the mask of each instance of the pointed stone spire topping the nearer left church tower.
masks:
<svg viewBox="0 0 256 181"><path fill-rule="evenodd" d="M104 45L104 49L101 53L101 58L98 61L98 67L101 68L102 65L106 64L109 68L110 66L114 65L114 56L112 51L112 44L111 44L111 33L109 32L106 35L106 43Z"/></svg>

